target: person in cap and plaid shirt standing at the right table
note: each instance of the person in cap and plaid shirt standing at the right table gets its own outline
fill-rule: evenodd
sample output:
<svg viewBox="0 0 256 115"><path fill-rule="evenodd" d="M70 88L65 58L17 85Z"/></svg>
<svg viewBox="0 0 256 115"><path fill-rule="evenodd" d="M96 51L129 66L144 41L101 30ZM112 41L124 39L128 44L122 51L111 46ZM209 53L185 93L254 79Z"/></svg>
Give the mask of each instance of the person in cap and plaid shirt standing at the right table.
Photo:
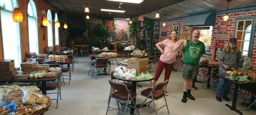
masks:
<svg viewBox="0 0 256 115"><path fill-rule="evenodd" d="M225 46L219 57L219 74L224 74L224 71L230 71L230 68L237 69L237 63L242 63L245 59L248 59L248 57L242 58L242 54L237 47L237 39L231 38L228 45ZM231 81L219 78L216 95L217 101L221 101L221 95L223 99L229 101L229 98L227 98L227 94L229 93L230 85Z"/></svg>

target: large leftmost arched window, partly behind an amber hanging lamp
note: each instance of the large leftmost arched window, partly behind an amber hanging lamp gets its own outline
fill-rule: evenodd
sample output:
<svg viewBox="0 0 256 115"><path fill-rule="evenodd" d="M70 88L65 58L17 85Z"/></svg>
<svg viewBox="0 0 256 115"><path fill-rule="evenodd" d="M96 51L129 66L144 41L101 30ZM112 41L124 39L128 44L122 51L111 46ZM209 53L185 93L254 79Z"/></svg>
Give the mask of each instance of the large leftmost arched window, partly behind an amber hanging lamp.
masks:
<svg viewBox="0 0 256 115"><path fill-rule="evenodd" d="M15 60L15 66L22 63L20 47L20 27L19 22L12 20L12 11L16 5L16 0L0 0L1 6L1 34L3 40L3 51L5 60Z"/></svg>

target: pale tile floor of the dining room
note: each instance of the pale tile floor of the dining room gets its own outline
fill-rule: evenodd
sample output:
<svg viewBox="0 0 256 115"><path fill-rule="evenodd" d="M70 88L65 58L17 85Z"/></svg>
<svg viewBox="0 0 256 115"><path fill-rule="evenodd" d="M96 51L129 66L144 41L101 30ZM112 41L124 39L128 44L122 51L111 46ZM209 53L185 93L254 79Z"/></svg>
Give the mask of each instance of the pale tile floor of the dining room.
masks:
<svg viewBox="0 0 256 115"><path fill-rule="evenodd" d="M121 61L122 58L117 58ZM75 63L75 74L71 74L72 81L70 85L66 84L61 87L61 98L59 100L59 108L56 109L56 100L52 100L49 110L44 115L105 115L108 107L108 97L110 85L108 83L108 76L87 76L90 67L89 57L79 57L79 64ZM117 67L115 63L111 63L112 70ZM154 66L153 66L154 68ZM155 69L151 69L154 74ZM164 72L163 72L164 73ZM163 74L160 76L159 81L163 81ZM68 83L67 80L65 80ZM207 89L203 84L196 83L195 86L198 90L192 89L191 93L195 97L195 101L187 100L187 103L182 103L182 83L183 78L181 72L172 72L167 92L169 96L166 97L170 115L238 115L237 112L231 111L225 104L230 104L232 101L219 102L215 99L215 92L212 89ZM142 103L145 97L140 96L140 92L144 89L150 88L149 82L140 83L142 88L137 89L136 103ZM53 92L53 91L52 91ZM56 94L48 94L52 99L56 99ZM231 94L228 96L230 97ZM147 102L147 101L146 101ZM249 109L245 111L245 106L242 105L242 99L237 99L237 109L244 115L255 115L256 111ZM156 107L159 108L164 104L164 99L155 101ZM116 101L111 100L110 106L117 108ZM121 111L124 109L121 108ZM155 115L153 104L150 107L143 107L139 110L140 115ZM168 115L166 107L157 111L158 115ZM122 113L110 108L108 115L123 115ZM129 115L129 108L126 112Z"/></svg>

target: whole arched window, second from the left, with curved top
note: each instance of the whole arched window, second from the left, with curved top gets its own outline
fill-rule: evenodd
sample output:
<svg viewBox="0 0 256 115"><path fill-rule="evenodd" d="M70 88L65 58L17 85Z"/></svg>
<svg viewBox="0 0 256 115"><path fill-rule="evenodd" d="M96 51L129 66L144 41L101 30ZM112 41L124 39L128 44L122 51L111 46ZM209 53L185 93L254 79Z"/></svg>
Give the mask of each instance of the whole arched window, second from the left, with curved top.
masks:
<svg viewBox="0 0 256 115"><path fill-rule="evenodd" d="M37 9L33 0L30 0L27 5L27 15L29 25L29 51L39 54Z"/></svg>

